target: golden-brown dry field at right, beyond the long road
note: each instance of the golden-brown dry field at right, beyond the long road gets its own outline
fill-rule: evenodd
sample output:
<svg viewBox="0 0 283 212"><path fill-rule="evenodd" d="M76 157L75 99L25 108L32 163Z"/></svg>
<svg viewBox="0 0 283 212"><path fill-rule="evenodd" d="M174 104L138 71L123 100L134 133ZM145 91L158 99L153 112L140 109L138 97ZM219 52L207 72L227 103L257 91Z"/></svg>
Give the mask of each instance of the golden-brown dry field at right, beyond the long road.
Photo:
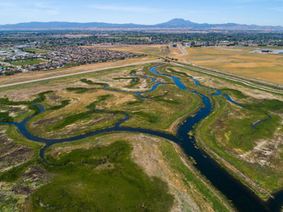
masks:
<svg viewBox="0 0 283 212"><path fill-rule="evenodd" d="M283 85L283 56L252 53L251 47L186 48L182 61ZM227 50L230 49L230 50ZM235 49L241 50L236 51Z"/></svg>

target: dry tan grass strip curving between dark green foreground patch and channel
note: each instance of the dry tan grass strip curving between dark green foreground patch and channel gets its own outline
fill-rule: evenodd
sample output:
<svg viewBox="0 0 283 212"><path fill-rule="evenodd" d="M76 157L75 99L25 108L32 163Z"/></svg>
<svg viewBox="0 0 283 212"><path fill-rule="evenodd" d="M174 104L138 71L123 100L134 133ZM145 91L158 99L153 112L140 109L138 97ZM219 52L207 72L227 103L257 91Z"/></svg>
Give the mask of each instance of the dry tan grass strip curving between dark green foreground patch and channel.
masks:
<svg viewBox="0 0 283 212"><path fill-rule="evenodd" d="M119 139L127 141L127 143L132 146L131 158L142 170L145 170L146 175L154 176L155 178L158 177L168 183L168 191L174 194L175 198L171 211L228 211L219 198L213 192L209 191L207 185L204 184L199 177L195 176L195 173L190 170L190 168L183 164L173 144L168 141L163 141L163 139L133 133L108 134L85 139L83 141L75 141L69 144L57 144L48 149L48 154L52 155L50 158L52 158L52 162L54 163L58 163L59 159L61 160L61 158L69 155L69 153L62 155L65 149L68 149L71 153L85 153L88 150L97 151L99 153L96 154L98 155L96 158L99 159L101 150L105 148L103 146L106 145L110 148L110 146L115 145L115 142ZM148 155L148 157L145 157L146 155ZM107 161L103 160L103 164L99 165L99 168L108 167L108 165L110 165L109 160L110 159L107 159ZM185 160L187 159L185 158ZM69 163L67 160L64 161L65 163ZM190 165L190 162L187 164ZM120 165L122 164L120 163ZM113 167L110 165L108 168L112 169ZM115 170L112 172L114 171ZM105 175L105 173L106 171L99 172L100 175ZM134 171L134 175L136 175L136 173L137 172ZM110 182L112 181L110 180ZM157 184L157 186L160 186L160 184ZM115 185L113 187L115 187ZM112 196L117 195L115 191L116 190L112 192ZM106 192L108 192L107 189ZM136 195L134 194L134 196Z"/></svg>

